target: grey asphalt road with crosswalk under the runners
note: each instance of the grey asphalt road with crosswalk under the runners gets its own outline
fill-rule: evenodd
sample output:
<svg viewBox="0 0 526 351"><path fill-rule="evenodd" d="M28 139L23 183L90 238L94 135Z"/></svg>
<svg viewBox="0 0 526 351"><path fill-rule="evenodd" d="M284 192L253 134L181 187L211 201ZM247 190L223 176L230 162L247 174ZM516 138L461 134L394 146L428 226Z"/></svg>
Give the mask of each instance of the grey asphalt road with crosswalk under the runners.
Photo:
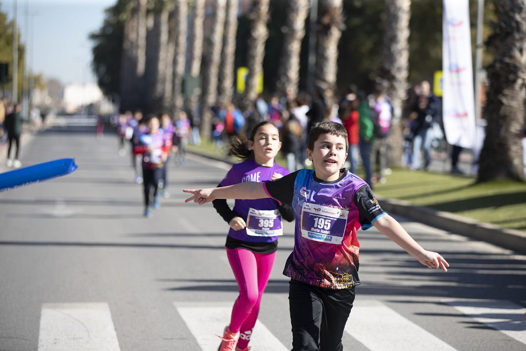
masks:
<svg viewBox="0 0 526 351"><path fill-rule="evenodd" d="M0 193L0 350L217 349L237 296L227 224L211 205L184 204L181 189L215 186L228 167L198 156L170 163L171 197L146 219L129 155L117 151L115 135L82 126L24 145L24 165L75 157L79 168ZM360 230L362 285L345 349L526 349L526 257L398 219L450 271ZM285 229L252 350L291 347Z"/></svg>

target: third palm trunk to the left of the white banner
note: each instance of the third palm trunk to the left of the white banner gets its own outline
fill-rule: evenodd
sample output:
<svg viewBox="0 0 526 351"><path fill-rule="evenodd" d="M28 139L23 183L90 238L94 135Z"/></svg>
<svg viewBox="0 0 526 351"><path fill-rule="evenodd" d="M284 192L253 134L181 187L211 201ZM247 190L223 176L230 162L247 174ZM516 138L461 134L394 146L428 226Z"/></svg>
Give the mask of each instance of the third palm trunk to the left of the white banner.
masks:
<svg viewBox="0 0 526 351"><path fill-rule="evenodd" d="M282 96L296 97L299 82L299 57L301 41L305 36L305 19L309 12L309 0L291 0L286 19L283 55L279 67L277 91Z"/></svg>

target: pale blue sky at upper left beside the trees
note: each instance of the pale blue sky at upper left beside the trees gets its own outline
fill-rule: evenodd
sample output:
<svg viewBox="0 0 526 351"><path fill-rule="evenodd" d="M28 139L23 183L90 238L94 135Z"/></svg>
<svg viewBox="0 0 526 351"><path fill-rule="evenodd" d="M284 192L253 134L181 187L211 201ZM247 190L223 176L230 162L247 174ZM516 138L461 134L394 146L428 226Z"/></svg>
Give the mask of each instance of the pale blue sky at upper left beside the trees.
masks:
<svg viewBox="0 0 526 351"><path fill-rule="evenodd" d="M46 78L57 78L63 84L90 83L92 43L90 32L103 23L104 9L117 0L17 0L18 28L22 42L29 40L31 56L34 33L33 66ZM29 36L26 29L26 3L29 5ZM0 9L13 18L14 0L1 0ZM34 24L32 31L31 22Z"/></svg>

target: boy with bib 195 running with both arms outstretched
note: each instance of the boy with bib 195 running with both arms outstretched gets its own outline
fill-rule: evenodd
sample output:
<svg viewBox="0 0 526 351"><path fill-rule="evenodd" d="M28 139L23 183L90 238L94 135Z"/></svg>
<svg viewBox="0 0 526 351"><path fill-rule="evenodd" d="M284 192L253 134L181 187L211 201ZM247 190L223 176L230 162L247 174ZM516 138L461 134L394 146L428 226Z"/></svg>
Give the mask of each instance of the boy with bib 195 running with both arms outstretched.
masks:
<svg viewBox="0 0 526 351"><path fill-rule="evenodd" d="M284 269L291 278L292 350L343 349L343 329L360 284L358 228L374 225L426 267L444 272L449 267L442 256L423 249L383 212L363 179L341 169L347 141L343 126L321 122L311 129L307 143L314 170L300 169L263 184L183 190L193 194L186 202L198 204L216 198L271 197L292 205L295 243Z"/></svg>

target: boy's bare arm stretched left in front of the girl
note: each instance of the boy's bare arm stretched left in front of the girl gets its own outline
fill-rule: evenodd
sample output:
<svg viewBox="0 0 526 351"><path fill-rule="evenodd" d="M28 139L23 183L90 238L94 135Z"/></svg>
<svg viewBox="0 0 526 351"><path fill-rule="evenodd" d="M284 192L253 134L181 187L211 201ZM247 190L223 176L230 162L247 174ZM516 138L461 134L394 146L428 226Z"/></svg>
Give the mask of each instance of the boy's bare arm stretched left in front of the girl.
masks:
<svg viewBox="0 0 526 351"><path fill-rule="evenodd" d="M269 197L263 188L263 184L258 182L239 183L229 186L222 186L220 188L183 189L183 193L192 194L191 197L185 200L185 203L193 201L199 205L211 202L216 198L258 199Z"/></svg>

